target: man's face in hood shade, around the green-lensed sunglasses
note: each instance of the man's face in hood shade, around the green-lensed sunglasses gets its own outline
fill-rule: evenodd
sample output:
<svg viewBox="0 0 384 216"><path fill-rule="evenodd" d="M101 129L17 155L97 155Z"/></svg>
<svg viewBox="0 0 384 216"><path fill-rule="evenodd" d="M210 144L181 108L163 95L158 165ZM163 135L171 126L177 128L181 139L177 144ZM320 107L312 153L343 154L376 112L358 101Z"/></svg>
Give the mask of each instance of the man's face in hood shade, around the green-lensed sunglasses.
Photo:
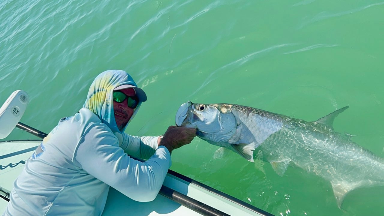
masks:
<svg viewBox="0 0 384 216"><path fill-rule="evenodd" d="M119 91L126 94L127 96L135 96L135 90L133 88L126 88ZM113 112L119 130L124 128L124 126L128 123L129 119L133 115L134 109L128 106L127 100L128 99L126 98L121 103L113 101Z"/></svg>

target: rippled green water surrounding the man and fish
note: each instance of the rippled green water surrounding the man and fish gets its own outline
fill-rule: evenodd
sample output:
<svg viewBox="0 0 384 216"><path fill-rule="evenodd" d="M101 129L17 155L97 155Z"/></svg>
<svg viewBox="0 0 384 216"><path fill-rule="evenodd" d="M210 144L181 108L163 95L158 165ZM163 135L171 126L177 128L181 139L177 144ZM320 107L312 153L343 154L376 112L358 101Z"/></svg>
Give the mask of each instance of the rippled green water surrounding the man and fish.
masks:
<svg viewBox="0 0 384 216"><path fill-rule="evenodd" d="M23 123L48 133L82 107L104 70L129 71L147 95L132 135L159 135L178 107L236 103L307 121L349 105L334 123L384 157L384 2L28 1L0 2L0 100L30 95ZM32 138L15 130L9 140ZM171 169L275 215L382 215L384 188L349 193L289 167L196 138L172 153ZM357 173L358 174L358 173Z"/></svg>

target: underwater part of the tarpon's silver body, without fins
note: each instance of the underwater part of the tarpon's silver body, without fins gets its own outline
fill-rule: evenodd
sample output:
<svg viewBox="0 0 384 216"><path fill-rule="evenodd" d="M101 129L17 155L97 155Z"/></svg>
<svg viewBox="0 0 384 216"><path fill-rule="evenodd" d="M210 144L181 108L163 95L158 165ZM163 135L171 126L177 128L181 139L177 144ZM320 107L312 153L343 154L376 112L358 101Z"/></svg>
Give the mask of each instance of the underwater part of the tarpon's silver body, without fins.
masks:
<svg viewBox="0 0 384 216"><path fill-rule="evenodd" d="M280 153L275 158L270 155L268 161L292 161L307 172L329 181L361 181L362 185L369 184L369 181L384 181L384 160L350 141L348 136L334 131L331 126L299 119L290 119L290 124L283 123L286 127L272 134L261 146L267 152Z"/></svg>

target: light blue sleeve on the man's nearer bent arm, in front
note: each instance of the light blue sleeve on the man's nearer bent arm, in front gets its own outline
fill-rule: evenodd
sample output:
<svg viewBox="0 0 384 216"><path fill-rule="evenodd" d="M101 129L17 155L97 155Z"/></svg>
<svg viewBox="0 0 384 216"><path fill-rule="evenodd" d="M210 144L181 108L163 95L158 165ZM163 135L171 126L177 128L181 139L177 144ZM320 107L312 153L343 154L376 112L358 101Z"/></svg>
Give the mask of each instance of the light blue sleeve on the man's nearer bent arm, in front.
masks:
<svg viewBox="0 0 384 216"><path fill-rule="evenodd" d="M136 201L156 198L170 167L170 153L160 146L145 162L129 157L104 126L91 127L74 153L75 164ZM97 165L96 165L97 164Z"/></svg>

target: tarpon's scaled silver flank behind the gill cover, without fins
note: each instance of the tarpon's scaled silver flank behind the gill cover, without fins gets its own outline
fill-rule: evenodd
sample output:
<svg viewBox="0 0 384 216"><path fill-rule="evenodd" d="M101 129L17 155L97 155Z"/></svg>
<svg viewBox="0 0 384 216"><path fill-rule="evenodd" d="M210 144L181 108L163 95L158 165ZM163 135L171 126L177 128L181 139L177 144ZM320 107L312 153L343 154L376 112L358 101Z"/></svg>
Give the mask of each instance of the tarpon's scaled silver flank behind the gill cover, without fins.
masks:
<svg viewBox="0 0 384 216"><path fill-rule="evenodd" d="M232 112L253 133L258 150L271 164L292 161L329 181L384 181L384 160L331 126L240 105L232 105Z"/></svg>

